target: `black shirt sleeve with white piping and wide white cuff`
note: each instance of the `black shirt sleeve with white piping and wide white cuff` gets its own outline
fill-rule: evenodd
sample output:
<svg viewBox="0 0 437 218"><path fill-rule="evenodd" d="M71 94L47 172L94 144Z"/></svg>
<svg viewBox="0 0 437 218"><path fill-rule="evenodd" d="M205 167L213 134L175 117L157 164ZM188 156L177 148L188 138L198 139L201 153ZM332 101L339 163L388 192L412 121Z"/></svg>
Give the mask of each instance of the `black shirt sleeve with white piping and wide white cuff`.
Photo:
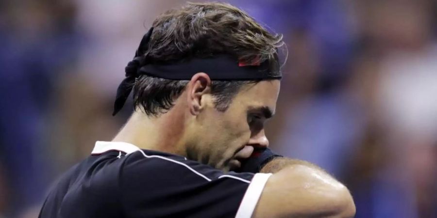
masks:
<svg viewBox="0 0 437 218"><path fill-rule="evenodd" d="M121 203L129 218L250 218L270 175L223 173L141 150L127 156L121 170Z"/></svg>

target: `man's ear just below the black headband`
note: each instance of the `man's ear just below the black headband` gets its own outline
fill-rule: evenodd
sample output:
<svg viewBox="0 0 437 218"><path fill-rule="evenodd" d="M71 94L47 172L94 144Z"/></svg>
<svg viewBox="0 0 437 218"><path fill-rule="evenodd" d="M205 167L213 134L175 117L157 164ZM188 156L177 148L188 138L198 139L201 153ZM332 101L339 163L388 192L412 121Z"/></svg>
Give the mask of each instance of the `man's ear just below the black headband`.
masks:
<svg viewBox="0 0 437 218"><path fill-rule="evenodd" d="M202 96L211 93L211 79L205 73L197 73L191 78L186 91L190 113L198 115L205 107L202 105Z"/></svg>

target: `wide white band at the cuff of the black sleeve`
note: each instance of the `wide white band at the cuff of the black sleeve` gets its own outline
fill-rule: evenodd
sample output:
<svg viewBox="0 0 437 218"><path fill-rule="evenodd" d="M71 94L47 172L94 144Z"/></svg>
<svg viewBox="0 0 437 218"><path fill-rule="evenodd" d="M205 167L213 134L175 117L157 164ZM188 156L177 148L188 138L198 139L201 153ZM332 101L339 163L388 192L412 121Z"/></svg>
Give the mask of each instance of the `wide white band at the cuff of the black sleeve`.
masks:
<svg viewBox="0 0 437 218"><path fill-rule="evenodd" d="M256 173L253 176L252 182L244 194L243 200L236 213L235 218L251 218L255 210L256 203L263 192L264 186L271 173Z"/></svg>

